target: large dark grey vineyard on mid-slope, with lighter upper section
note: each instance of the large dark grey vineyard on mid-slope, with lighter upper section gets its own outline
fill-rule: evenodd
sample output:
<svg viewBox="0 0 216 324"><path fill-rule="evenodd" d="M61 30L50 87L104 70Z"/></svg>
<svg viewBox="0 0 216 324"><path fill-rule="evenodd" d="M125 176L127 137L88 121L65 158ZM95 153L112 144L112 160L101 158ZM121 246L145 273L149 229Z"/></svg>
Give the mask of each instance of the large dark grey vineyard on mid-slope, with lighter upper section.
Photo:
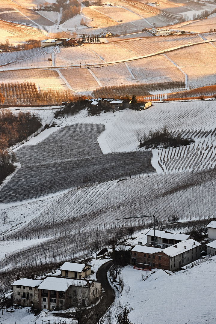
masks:
<svg viewBox="0 0 216 324"><path fill-rule="evenodd" d="M154 171L151 152L103 155L96 140L103 130L103 125L70 126L39 145L20 149L17 156L21 168L0 191L0 202L32 199L85 183Z"/></svg>

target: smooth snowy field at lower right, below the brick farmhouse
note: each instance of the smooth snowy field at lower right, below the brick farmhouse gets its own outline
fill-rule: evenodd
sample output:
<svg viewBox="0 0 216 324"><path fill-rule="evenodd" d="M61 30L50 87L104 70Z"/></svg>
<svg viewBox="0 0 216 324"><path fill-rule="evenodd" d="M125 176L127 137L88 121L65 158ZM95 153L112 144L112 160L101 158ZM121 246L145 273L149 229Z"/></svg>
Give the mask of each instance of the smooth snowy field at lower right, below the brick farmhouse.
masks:
<svg viewBox="0 0 216 324"><path fill-rule="evenodd" d="M175 273L127 266L121 273L124 289L115 302L128 302L134 308L129 319L136 324L215 324L215 267L216 256Z"/></svg>

